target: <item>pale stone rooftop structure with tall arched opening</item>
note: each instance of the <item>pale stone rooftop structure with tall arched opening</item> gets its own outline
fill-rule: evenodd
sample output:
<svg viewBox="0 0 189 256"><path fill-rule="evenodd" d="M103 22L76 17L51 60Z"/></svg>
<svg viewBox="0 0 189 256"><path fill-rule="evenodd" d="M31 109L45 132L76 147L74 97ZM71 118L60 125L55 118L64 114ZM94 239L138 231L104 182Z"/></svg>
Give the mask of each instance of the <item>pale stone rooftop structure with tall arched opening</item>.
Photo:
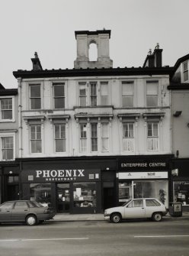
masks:
<svg viewBox="0 0 189 256"><path fill-rule="evenodd" d="M75 31L77 41L77 58L74 67L79 68L109 68L113 66L110 59L109 39L111 31L103 29L101 31ZM89 60L90 45L96 44L97 60Z"/></svg>

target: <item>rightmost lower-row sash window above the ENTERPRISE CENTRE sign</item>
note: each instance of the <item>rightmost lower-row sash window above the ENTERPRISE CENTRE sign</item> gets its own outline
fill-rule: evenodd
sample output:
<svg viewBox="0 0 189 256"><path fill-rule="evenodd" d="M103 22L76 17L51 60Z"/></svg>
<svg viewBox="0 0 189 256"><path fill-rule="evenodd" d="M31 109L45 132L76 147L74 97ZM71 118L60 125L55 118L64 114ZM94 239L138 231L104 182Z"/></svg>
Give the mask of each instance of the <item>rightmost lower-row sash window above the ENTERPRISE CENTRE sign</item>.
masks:
<svg viewBox="0 0 189 256"><path fill-rule="evenodd" d="M159 123L148 122L148 138L147 138L147 150L158 151L159 150Z"/></svg>

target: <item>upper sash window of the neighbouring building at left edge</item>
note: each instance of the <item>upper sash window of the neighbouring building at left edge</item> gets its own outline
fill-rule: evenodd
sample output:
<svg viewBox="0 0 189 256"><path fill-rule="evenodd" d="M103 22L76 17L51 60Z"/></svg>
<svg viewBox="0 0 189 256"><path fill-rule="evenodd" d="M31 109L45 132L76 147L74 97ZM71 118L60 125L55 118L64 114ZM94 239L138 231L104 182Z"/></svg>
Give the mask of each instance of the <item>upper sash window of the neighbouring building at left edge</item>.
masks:
<svg viewBox="0 0 189 256"><path fill-rule="evenodd" d="M1 119L12 119L12 99L0 99Z"/></svg>

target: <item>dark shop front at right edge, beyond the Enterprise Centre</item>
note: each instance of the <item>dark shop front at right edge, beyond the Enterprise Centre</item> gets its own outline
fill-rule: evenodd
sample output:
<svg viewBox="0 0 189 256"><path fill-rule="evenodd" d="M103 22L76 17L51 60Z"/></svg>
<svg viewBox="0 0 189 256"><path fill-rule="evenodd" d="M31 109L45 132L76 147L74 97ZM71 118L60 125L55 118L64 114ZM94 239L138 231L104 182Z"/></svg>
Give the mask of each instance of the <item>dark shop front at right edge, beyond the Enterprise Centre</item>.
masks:
<svg viewBox="0 0 189 256"><path fill-rule="evenodd" d="M183 211L189 211L189 158L173 159L172 201L182 203Z"/></svg>

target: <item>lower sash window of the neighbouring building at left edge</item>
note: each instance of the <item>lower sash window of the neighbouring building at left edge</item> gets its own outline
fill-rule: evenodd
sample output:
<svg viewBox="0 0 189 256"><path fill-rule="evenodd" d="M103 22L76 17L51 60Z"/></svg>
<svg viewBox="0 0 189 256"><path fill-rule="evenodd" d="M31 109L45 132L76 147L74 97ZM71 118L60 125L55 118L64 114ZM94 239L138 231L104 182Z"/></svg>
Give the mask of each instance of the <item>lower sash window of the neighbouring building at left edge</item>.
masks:
<svg viewBox="0 0 189 256"><path fill-rule="evenodd" d="M2 137L2 160L14 159L14 143L13 137Z"/></svg>

